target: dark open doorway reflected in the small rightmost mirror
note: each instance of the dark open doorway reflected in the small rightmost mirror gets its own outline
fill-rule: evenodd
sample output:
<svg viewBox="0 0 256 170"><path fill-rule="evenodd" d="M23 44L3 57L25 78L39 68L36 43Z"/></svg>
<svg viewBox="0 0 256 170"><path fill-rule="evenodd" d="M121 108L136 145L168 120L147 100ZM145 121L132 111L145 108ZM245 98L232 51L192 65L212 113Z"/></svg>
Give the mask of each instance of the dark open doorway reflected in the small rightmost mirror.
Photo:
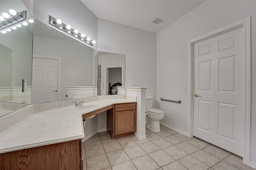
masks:
<svg viewBox="0 0 256 170"><path fill-rule="evenodd" d="M106 85L107 95L115 95L117 86L122 86L122 67L112 67L106 70Z"/></svg>

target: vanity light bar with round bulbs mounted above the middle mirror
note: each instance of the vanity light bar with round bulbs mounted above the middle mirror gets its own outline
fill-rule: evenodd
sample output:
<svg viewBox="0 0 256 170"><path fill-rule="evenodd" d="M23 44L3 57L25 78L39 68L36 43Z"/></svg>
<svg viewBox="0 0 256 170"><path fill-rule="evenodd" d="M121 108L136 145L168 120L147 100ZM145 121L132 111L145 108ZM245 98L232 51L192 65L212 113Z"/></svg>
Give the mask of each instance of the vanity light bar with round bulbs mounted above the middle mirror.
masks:
<svg viewBox="0 0 256 170"><path fill-rule="evenodd" d="M81 41L91 45L92 47L96 43L96 41L91 40L90 37L86 37L84 33L79 33L79 31L77 29L73 29L70 25L66 25L66 24L62 23L62 21L60 19L56 19L56 18L50 16L49 23L51 25L57 27L58 29L65 31L69 35L72 35L73 37L76 37L76 38L80 39Z"/></svg>

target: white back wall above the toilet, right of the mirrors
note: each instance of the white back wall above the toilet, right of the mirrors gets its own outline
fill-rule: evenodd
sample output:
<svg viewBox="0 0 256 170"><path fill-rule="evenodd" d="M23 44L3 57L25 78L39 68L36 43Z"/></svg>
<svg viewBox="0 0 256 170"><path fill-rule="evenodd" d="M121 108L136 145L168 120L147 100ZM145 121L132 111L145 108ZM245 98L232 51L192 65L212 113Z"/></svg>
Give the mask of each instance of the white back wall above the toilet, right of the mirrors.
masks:
<svg viewBox="0 0 256 170"><path fill-rule="evenodd" d="M148 87L156 97L156 34L98 19L98 50L126 59L125 86Z"/></svg>

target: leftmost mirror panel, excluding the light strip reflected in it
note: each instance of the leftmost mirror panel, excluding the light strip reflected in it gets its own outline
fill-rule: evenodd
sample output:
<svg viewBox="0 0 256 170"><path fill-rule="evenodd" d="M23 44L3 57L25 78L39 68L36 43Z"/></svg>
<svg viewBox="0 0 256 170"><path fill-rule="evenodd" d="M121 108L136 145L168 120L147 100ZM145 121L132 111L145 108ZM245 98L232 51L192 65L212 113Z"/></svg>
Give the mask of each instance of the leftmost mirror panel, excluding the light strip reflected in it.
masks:
<svg viewBox="0 0 256 170"><path fill-rule="evenodd" d="M21 23L33 17L21 1L0 0L0 14L10 9L25 10L26 20L0 30L0 116L31 104L33 23Z"/></svg>

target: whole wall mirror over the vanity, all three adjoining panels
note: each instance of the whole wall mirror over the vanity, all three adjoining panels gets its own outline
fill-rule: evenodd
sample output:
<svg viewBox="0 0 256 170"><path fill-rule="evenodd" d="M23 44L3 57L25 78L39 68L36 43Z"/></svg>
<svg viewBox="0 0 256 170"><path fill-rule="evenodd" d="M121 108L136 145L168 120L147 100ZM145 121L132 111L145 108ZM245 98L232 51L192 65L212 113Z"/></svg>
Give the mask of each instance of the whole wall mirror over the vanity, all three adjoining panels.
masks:
<svg viewBox="0 0 256 170"><path fill-rule="evenodd" d="M10 9L33 19L21 1L0 0L1 14ZM125 55L98 52L36 19L27 23L0 33L0 116L28 104L114 95L125 85Z"/></svg>

